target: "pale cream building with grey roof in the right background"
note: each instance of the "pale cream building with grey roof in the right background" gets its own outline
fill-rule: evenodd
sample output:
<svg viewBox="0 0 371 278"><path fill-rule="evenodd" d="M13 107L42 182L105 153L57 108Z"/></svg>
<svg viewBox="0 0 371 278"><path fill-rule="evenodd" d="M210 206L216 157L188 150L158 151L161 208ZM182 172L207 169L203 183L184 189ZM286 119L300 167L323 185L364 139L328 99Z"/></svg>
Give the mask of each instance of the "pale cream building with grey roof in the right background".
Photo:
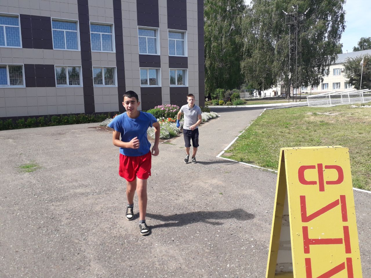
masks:
<svg viewBox="0 0 371 278"><path fill-rule="evenodd" d="M371 50L338 54L338 59L336 59L335 63L330 66L328 75L323 77L323 82L319 86L302 86L302 93L318 94L354 90L354 88L349 84L348 79L345 78L344 63L347 62L348 58L361 57L366 54L371 55Z"/></svg>

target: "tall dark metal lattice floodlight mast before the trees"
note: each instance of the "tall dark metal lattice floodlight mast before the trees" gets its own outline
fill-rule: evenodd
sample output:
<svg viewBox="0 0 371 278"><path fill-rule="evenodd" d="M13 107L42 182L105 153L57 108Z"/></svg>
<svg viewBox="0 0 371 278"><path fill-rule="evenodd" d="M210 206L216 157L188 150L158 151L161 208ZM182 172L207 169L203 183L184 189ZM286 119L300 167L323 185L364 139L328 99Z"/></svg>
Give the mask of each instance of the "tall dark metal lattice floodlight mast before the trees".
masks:
<svg viewBox="0 0 371 278"><path fill-rule="evenodd" d="M292 84L292 101L294 101L294 91L295 101L298 100L298 85L301 87L301 78L298 82L298 60L301 64L301 31L302 25L305 23L306 13L309 11L306 10L305 13L299 13L299 8L297 5L292 6L293 12L285 13L285 22L289 26L289 101L290 101L290 92ZM294 89L295 86L295 89ZM301 97L301 90L300 90Z"/></svg>

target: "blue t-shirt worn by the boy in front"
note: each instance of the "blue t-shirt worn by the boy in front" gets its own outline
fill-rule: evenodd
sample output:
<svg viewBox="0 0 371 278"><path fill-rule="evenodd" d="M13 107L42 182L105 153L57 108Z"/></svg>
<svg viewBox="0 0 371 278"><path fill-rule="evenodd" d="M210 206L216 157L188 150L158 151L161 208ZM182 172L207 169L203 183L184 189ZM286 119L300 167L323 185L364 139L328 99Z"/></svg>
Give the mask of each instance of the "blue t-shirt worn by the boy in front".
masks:
<svg viewBox="0 0 371 278"><path fill-rule="evenodd" d="M126 112L116 116L109 128L121 133L122 142L130 142L134 137L139 139L139 149L120 148L120 153L126 156L141 156L148 153L151 149L151 143L147 138L147 129L157 122L157 119L147 112L139 111L139 116L135 119L129 118Z"/></svg>

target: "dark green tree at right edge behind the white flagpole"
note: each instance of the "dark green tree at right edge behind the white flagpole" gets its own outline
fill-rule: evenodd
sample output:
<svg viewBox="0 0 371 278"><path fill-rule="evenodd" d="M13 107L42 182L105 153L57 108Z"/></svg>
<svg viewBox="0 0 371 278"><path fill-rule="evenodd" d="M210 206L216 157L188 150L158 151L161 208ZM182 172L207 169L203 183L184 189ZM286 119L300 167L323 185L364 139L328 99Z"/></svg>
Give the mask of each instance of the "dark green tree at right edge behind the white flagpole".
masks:
<svg viewBox="0 0 371 278"><path fill-rule="evenodd" d="M355 58L348 58L344 64L345 78L349 80L349 83L355 89L359 90L361 85L361 73L362 73L362 89L371 87L371 56L363 56L363 69L362 69L362 56Z"/></svg>

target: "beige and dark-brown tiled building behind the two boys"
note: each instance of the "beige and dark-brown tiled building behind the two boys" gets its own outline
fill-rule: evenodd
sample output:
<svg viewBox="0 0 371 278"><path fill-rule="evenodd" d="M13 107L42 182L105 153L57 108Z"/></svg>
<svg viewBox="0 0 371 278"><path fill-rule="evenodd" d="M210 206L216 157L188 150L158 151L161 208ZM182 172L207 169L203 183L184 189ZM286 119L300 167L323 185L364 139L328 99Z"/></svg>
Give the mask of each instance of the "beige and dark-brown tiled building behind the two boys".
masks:
<svg viewBox="0 0 371 278"><path fill-rule="evenodd" d="M6 5L6 6L1 6ZM0 2L0 118L204 105L202 0Z"/></svg>

